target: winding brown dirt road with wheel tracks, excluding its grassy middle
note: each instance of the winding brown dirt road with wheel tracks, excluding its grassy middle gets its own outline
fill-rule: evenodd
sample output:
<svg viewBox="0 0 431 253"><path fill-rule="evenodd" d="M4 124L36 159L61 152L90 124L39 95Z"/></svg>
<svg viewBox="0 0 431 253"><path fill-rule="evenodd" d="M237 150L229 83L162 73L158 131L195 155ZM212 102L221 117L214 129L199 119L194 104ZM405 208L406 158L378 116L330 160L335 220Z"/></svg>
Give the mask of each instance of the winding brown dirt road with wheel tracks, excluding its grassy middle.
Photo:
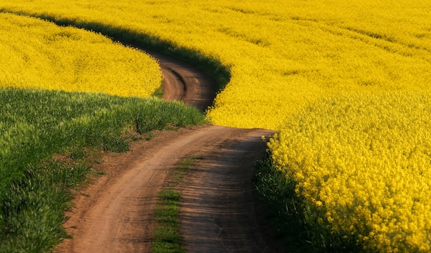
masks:
<svg viewBox="0 0 431 253"><path fill-rule="evenodd" d="M159 62L165 99L182 97L200 110L211 105L215 92L205 88L213 85L209 77L166 57ZM175 85L185 88L173 92ZM200 156L180 185L187 252L281 252L265 232L251 192L253 165L266 149L261 136L273 131L202 125L154 134L151 141L136 141L131 151L106 154L94 165L105 175L76 193L65 223L72 239L55 251L151 252L156 193L178 161Z"/></svg>

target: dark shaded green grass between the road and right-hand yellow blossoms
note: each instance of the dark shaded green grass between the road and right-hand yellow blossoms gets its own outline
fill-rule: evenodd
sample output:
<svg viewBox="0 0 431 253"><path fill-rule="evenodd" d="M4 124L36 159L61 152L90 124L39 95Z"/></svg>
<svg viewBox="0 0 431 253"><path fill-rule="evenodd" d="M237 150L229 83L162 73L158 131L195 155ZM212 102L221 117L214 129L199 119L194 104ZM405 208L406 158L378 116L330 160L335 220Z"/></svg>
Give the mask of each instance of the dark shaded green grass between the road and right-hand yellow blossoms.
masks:
<svg viewBox="0 0 431 253"><path fill-rule="evenodd" d="M295 182L273 167L269 154L257 164L253 183L261 212L286 252L363 252L360 245L340 240L337 234L324 236L324 231L310 222L313 217L296 194Z"/></svg>

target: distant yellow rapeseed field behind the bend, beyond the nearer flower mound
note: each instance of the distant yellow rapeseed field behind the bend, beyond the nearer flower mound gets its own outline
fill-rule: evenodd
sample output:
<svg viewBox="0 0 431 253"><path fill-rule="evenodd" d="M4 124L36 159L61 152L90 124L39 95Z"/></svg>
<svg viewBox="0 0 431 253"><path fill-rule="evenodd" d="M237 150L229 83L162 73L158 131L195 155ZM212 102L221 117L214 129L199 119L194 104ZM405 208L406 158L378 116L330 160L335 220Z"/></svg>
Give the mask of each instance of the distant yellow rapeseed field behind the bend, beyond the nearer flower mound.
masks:
<svg viewBox="0 0 431 253"><path fill-rule="evenodd" d="M339 92L430 90L430 1L3 0L0 10L147 34L229 68L207 116L277 130Z"/></svg>

